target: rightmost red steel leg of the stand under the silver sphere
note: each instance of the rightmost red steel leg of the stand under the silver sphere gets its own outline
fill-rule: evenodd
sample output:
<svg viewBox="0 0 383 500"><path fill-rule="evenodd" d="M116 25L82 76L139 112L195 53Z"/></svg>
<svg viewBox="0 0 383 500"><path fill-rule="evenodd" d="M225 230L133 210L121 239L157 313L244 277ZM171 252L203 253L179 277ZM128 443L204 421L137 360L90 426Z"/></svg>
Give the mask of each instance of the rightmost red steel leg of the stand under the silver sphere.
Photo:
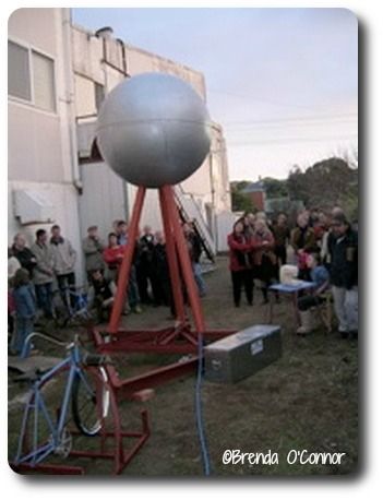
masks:
<svg viewBox="0 0 383 500"><path fill-rule="evenodd" d="M187 286L188 297L189 297L190 307L193 313L195 328L199 333L203 333L205 331L205 322L202 316L201 301L200 301L200 297L199 297L194 275L193 275L193 270L192 270L191 262L190 262L187 242L184 239L184 235L182 234L182 230L181 230L181 225L179 223L172 187L164 186L161 190L163 190L164 197L166 198L169 217L170 217L172 228L173 228L176 248L178 250L182 275L184 278L185 286Z"/></svg>

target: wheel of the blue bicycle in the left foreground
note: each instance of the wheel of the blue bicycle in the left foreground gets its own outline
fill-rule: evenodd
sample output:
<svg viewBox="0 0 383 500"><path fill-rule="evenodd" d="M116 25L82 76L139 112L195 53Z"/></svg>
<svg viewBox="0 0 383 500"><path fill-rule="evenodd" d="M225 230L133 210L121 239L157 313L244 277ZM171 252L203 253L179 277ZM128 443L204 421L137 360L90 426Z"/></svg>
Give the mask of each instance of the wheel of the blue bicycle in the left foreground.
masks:
<svg viewBox="0 0 383 500"><path fill-rule="evenodd" d="M72 388L73 420L84 436L96 436L109 413L110 394L103 367L83 369Z"/></svg>

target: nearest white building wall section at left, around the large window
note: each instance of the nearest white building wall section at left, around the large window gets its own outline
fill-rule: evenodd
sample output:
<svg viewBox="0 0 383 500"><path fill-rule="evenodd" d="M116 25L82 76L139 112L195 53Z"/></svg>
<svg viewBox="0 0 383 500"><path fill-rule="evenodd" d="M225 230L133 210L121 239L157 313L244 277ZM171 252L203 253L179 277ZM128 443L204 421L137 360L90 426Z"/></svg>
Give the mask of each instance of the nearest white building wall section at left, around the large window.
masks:
<svg viewBox="0 0 383 500"><path fill-rule="evenodd" d="M83 255L79 226L76 144L74 136L74 92L71 71L71 22L69 9L19 9L9 19L9 39L46 55L55 61L56 111L45 111L32 103L9 96L9 215L8 243L15 233L27 236L29 245L40 227L23 225L14 212L14 190L37 192L55 207L55 223Z"/></svg>

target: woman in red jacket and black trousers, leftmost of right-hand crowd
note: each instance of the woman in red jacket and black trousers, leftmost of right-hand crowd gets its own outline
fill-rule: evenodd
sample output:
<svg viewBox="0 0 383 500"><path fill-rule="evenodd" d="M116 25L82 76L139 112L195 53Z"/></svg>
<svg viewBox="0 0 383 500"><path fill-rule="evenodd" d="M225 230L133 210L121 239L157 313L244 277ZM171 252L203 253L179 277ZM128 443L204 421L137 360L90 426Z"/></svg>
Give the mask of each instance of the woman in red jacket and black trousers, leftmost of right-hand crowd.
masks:
<svg viewBox="0 0 383 500"><path fill-rule="evenodd" d="M241 221L238 221L232 233L227 237L227 245L230 249L230 271L232 282L232 295L236 307L241 302L241 288L244 286L244 294L248 305L253 305L253 270L251 262L252 242L244 235Z"/></svg>

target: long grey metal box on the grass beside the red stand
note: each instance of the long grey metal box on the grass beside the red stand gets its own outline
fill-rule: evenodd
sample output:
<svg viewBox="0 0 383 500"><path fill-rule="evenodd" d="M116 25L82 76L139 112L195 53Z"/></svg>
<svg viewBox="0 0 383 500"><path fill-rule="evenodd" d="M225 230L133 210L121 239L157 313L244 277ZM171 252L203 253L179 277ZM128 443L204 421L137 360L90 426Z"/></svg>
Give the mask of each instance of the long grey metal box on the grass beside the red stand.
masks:
<svg viewBox="0 0 383 500"><path fill-rule="evenodd" d="M205 379L235 383L282 356L280 326L256 324L204 348Z"/></svg>

